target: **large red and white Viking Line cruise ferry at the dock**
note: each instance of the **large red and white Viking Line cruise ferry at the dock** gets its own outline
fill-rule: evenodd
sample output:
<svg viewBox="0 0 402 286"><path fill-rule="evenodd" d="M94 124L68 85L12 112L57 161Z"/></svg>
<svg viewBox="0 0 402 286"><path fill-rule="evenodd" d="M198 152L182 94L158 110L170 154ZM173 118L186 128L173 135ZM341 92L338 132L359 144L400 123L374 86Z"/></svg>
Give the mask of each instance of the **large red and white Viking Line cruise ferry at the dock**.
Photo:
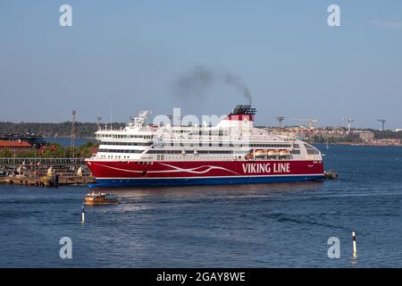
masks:
<svg viewBox="0 0 402 286"><path fill-rule="evenodd" d="M86 160L96 186L182 186L319 181L321 152L299 139L254 127L255 108L238 105L211 124L147 123L148 111L121 130L96 131ZM172 117L171 117L172 118Z"/></svg>

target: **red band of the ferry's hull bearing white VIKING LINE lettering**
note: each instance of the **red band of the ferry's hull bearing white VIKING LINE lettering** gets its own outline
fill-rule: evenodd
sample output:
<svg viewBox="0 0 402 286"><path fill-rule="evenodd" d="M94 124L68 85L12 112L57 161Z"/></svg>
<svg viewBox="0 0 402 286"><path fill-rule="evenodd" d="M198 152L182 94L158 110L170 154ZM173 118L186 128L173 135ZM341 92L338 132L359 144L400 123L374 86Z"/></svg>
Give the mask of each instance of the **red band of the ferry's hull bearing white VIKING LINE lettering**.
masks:
<svg viewBox="0 0 402 286"><path fill-rule="evenodd" d="M322 161L155 161L88 160L97 179L259 177L323 175Z"/></svg>

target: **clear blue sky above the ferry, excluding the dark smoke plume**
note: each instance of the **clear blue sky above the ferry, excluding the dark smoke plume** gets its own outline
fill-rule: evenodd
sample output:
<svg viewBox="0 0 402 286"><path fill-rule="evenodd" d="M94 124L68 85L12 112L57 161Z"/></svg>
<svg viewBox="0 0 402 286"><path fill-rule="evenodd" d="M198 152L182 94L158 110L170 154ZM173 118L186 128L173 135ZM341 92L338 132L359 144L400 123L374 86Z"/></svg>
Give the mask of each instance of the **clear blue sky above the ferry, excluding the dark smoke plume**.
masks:
<svg viewBox="0 0 402 286"><path fill-rule="evenodd" d="M61 4L72 27L59 25ZM327 7L340 6L340 27ZM196 66L250 89L256 123L402 128L401 1L0 1L0 121L125 122L154 114L227 114L244 98L215 85L174 94Z"/></svg>

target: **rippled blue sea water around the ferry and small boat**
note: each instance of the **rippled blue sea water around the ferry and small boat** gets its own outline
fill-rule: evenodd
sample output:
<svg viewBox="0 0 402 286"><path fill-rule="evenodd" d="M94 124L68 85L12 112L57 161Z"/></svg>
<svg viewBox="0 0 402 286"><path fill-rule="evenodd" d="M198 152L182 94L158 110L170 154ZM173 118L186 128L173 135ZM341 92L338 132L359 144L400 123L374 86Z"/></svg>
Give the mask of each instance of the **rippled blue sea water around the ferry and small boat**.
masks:
<svg viewBox="0 0 402 286"><path fill-rule="evenodd" d="M402 148L320 148L339 180L109 189L121 204L88 206L85 224L85 187L0 186L0 266L402 267Z"/></svg>

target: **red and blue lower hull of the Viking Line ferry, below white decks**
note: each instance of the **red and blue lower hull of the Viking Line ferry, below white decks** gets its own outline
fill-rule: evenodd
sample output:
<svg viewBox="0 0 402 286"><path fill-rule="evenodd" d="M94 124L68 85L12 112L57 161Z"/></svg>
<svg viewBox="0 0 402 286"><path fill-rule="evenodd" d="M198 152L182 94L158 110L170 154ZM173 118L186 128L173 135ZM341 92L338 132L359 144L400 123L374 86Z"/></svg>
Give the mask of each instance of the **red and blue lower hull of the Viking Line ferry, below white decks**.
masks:
<svg viewBox="0 0 402 286"><path fill-rule="evenodd" d="M87 160L96 187L188 186L320 181L322 161L202 161L150 163Z"/></svg>

